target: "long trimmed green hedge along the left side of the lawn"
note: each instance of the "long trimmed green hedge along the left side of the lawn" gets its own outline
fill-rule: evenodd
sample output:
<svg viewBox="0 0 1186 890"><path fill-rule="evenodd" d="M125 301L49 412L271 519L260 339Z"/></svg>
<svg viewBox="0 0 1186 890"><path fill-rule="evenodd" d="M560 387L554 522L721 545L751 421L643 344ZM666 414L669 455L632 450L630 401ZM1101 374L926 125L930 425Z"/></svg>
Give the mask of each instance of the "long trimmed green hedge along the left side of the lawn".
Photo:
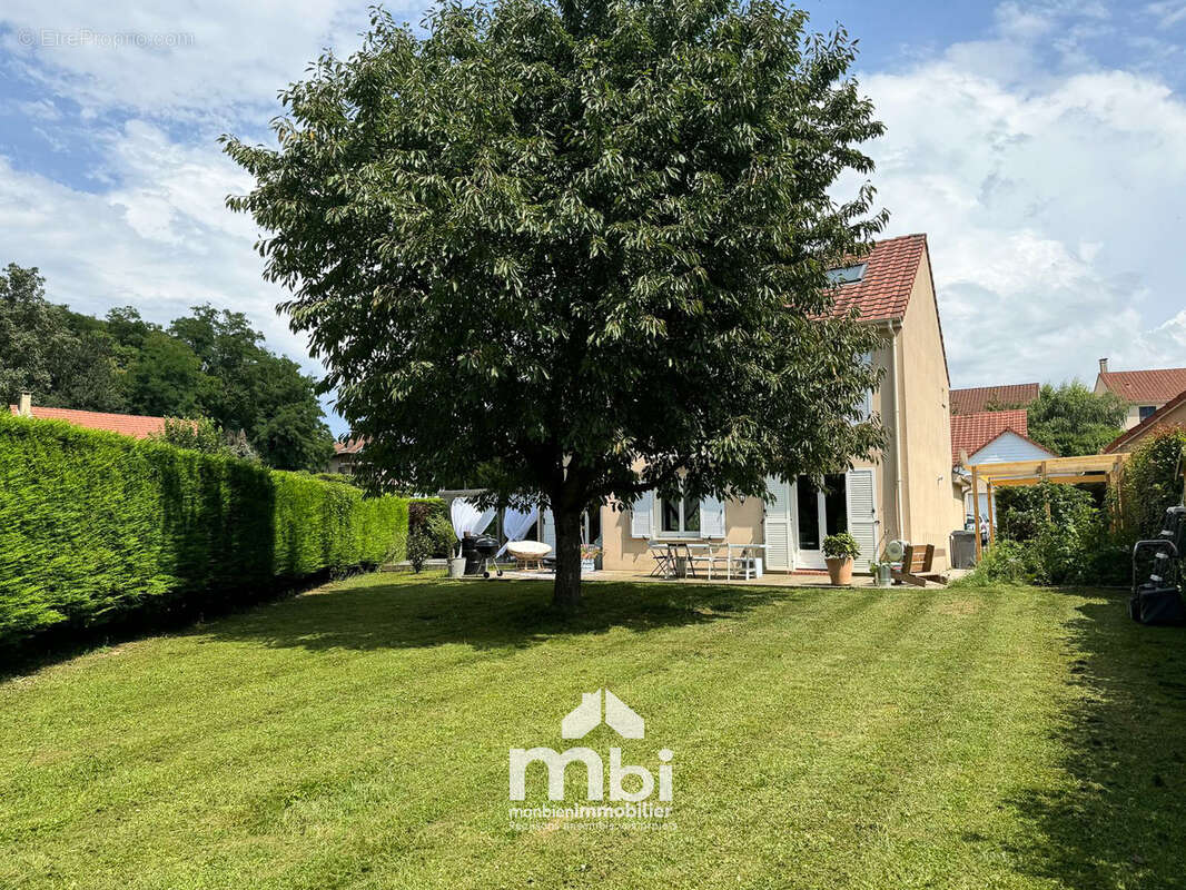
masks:
<svg viewBox="0 0 1186 890"><path fill-rule="evenodd" d="M406 557L408 503L0 415L0 646Z"/></svg>

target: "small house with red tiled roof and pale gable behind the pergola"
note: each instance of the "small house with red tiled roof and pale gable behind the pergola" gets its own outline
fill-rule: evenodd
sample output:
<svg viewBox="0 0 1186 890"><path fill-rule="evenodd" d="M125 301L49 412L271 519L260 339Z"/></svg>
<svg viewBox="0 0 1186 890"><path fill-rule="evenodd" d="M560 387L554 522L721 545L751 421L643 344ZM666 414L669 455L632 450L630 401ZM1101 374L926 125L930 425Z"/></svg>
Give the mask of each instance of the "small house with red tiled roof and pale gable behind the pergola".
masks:
<svg viewBox="0 0 1186 890"><path fill-rule="evenodd" d="M1013 411L982 411L951 417L952 477L963 490L964 516L974 516L971 473L968 468L977 464L1003 464L1013 460L1045 460L1058 457L1053 451L1029 438L1025 408ZM988 492L982 490L980 515L988 521ZM993 495L996 513L996 495Z"/></svg>

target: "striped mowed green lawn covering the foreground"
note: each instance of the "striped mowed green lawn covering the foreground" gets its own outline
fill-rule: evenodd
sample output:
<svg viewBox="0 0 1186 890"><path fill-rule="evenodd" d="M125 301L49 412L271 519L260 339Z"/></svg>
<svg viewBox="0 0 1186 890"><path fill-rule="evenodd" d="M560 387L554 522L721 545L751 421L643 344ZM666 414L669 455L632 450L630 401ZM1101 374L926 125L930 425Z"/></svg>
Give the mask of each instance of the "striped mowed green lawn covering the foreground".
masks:
<svg viewBox="0 0 1186 890"><path fill-rule="evenodd" d="M1186 631L1120 595L548 595L368 576L0 682L0 886L1186 881ZM599 687L644 739L561 739ZM516 829L509 749L575 744L671 749L671 825Z"/></svg>

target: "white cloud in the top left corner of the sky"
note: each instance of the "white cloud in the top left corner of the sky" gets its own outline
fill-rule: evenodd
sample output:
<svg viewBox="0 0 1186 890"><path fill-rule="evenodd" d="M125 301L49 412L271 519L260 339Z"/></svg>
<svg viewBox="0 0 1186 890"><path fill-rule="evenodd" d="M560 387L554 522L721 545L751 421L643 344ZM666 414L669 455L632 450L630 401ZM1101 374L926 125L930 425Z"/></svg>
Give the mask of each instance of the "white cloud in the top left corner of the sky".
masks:
<svg viewBox="0 0 1186 890"><path fill-rule="evenodd" d="M350 52L365 5L344 0L7 0L0 47L20 71L89 113L125 109L218 125L275 104L324 46Z"/></svg>

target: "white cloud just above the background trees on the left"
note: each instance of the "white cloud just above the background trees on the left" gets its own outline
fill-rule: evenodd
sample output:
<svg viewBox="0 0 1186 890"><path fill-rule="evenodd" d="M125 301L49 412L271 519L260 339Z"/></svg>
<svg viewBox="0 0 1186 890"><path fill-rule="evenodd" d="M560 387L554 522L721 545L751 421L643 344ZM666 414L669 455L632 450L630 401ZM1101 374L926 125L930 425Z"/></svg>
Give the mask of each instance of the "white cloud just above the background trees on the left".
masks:
<svg viewBox="0 0 1186 890"><path fill-rule="evenodd" d="M98 195L0 158L2 261L40 267L50 299L82 312L132 304L161 323L206 301L246 312L269 345L317 371L274 311L286 292L262 279L254 224L223 206L247 186L242 171L217 146L178 146L142 121L108 141L128 184Z"/></svg>

